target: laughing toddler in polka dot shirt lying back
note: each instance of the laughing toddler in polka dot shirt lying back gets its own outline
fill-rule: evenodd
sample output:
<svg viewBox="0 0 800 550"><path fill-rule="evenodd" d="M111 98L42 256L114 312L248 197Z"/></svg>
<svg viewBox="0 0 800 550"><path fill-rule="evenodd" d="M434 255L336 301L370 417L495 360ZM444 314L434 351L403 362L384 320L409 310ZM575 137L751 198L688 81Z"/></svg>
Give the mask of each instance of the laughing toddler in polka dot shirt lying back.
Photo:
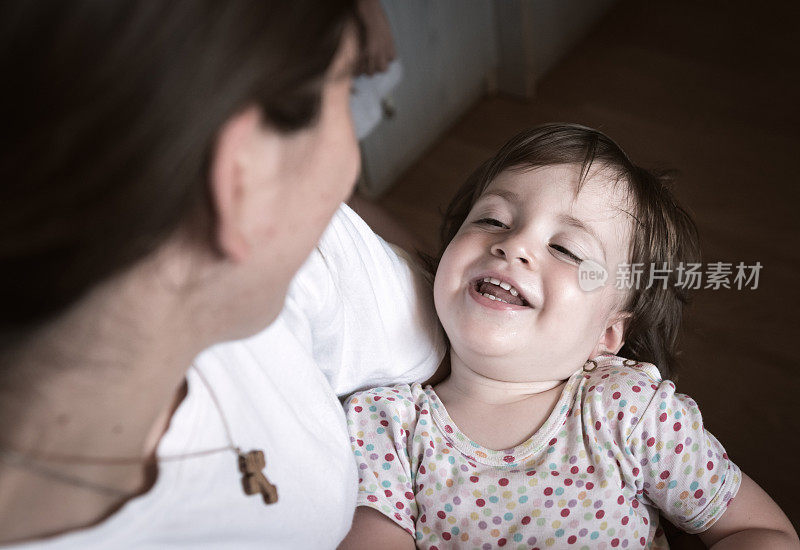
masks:
<svg viewBox="0 0 800 550"><path fill-rule="evenodd" d="M360 508L345 546L662 548L662 514L708 545L797 547L667 379L676 267L699 249L660 177L600 132L538 127L469 177L443 237L450 374L346 402ZM668 278L616 284L633 263Z"/></svg>

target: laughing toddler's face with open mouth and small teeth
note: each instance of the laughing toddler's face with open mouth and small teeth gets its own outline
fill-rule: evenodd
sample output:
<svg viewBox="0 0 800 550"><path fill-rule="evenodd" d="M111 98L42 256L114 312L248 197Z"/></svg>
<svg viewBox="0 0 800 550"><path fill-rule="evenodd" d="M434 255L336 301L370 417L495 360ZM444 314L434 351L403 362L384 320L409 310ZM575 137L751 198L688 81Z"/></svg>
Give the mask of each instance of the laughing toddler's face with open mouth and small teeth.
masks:
<svg viewBox="0 0 800 550"><path fill-rule="evenodd" d="M593 170L575 197L579 171L558 165L501 173L442 256L436 311L457 359L484 376L561 380L609 347L608 327L623 298L615 272L628 261L630 243L625 185ZM580 260L572 255L604 266L605 286L581 290ZM483 282L487 277L513 288Z"/></svg>

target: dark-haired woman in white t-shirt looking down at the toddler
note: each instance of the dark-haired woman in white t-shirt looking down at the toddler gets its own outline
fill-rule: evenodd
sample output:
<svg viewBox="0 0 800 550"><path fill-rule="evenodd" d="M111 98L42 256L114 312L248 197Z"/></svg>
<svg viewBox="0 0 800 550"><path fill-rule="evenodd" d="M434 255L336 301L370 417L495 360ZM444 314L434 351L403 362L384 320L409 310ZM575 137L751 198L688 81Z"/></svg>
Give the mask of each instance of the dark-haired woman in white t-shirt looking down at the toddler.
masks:
<svg viewBox="0 0 800 550"><path fill-rule="evenodd" d="M352 10L3 5L0 543L346 534L337 393L443 351L421 277L339 207Z"/></svg>

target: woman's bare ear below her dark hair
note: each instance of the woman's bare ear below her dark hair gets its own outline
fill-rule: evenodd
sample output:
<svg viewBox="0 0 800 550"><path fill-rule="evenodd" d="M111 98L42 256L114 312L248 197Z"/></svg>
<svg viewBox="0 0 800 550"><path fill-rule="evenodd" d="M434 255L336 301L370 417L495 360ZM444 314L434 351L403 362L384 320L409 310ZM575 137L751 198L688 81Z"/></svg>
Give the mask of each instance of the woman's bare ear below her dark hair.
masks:
<svg viewBox="0 0 800 550"><path fill-rule="evenodd" d="M263 172L265 165L276 161L270 154L275 151L264 146L269 141L264 139L265 132L260 111L252 106L228 119L214 146L210 185L216 213L215 235L220 251L236 263L250 254L246 201L252 181L258 179L252 172Z"/></svg>

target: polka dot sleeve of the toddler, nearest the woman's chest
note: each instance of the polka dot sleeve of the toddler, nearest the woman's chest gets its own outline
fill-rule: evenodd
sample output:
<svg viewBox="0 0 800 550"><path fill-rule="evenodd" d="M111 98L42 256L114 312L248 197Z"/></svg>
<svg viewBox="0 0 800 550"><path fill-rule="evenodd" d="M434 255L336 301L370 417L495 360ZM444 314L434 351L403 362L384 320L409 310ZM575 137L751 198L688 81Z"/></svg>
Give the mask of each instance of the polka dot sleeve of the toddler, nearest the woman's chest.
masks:
<svg viewBox="0 0 800 550"><path fill-rule="evenodd" d="M408 437L417 409L408 386L359 392L345 402L358 465L358 506L369 506L414 535L417 504Z"/></svg>

